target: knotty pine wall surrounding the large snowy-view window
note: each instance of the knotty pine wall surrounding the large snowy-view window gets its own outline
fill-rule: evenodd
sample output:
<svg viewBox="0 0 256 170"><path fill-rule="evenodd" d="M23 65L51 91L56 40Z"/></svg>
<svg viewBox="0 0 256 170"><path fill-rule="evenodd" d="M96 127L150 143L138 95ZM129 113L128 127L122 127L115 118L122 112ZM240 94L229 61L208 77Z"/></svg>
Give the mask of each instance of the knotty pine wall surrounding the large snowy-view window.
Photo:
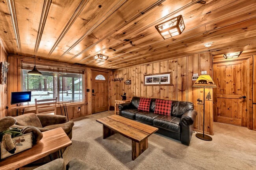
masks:
<svg viewBox="0 0 256 170"><path fill-rule="evenodd" d="M21 89L21 62L22 60L29 62L33 62L33 58L26 58L26 57L18 57L18 56L13 56L11 55L8 57L8 62L10 63L9 65L9 72L8 72L8 106L9 106L9 111L8 114L9 116L15 116L16 115L16 110L12 109L13 106L10 104L10 99L11 99L11 91L22 91ZM72 64L63 64L60 62L52 62L52 61L47 61L47 60L38 60L36 61L37 64L46 64L48 66L51 66L54 64L54 66L59 66L59 67L65 67L65 68L79 68L84 70L84 102L82 103L72 103L72 104L67 104L68 105L68 113L69 113L69 119L75 118L75 117L81 117L85 115L90 115L91 114L91 68L87 68L85 66L74 66ZM112 80L112 71L106 71L102 69L98 69L98 71L105 71L109 72L109 84L111 84ZM111 86L110 86L111 87ZM90 91L87 92L86 89L89 89ZM109 90L109 106L110 106L110 101L111 101L111 94L112 91L111 89ZM6 100L7 101L7 100ZM2 106L2 105L1 105ZM81 111L78 111L78 107L81 108ZM28 110L24 113L34 113L35 111ZM21 114L21 110L19 112ZM58 109L57 109L57 114L61 115L60 109L59 109L59 104L58 104Z"/></svg>

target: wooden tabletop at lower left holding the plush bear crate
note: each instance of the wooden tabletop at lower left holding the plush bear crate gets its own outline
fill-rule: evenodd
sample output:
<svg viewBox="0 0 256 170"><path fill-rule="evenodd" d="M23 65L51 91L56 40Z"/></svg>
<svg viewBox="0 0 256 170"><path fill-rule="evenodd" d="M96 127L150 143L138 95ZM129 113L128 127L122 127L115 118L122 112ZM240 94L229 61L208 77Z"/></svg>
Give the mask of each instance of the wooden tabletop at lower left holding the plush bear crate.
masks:
<svg viewBox="0 0 256 170"><path fill-rule="evenodd" d="M3 170L13 170L28 165L42 157L71 145L72 142L62 128L43 132L43 139L32 148L0 161Z"/></svg>

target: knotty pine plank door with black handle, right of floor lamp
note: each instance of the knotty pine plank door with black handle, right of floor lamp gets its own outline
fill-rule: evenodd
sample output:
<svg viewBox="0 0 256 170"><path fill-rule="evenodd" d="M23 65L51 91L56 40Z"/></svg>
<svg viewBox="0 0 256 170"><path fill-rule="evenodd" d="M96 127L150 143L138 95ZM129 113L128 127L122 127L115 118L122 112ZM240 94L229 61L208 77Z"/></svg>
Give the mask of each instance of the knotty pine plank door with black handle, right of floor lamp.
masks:
<svg viewBox="0 0 256 170"><path fill-rule="evenodd" d="M213 64L215 122L248 126L250 59Z"/></svg>

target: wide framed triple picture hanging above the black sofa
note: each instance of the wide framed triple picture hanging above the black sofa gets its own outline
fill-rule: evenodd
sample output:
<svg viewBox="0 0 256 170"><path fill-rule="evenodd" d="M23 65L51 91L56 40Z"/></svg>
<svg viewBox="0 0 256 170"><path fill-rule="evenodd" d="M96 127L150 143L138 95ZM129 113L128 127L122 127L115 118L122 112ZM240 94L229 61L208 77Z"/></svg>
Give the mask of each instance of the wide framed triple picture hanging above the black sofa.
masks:
<svg viewBox="0 0 256 170"><path fill-rule="evenodd" d="M171 72L144 75L144 86L171 86Z"/></svg>

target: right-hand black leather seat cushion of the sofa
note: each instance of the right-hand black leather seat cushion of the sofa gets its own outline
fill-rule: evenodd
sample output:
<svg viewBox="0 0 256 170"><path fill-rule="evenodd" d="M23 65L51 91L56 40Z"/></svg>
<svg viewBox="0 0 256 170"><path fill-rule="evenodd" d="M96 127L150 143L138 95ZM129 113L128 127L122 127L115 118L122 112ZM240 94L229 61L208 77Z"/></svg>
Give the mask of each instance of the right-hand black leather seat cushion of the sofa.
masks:
<svg viewBox="0 0 256 170"><path fill-rule="evenodd" d="M154 126L180 133L180 118L175 116L159 115L153 121Z"/></svg>

